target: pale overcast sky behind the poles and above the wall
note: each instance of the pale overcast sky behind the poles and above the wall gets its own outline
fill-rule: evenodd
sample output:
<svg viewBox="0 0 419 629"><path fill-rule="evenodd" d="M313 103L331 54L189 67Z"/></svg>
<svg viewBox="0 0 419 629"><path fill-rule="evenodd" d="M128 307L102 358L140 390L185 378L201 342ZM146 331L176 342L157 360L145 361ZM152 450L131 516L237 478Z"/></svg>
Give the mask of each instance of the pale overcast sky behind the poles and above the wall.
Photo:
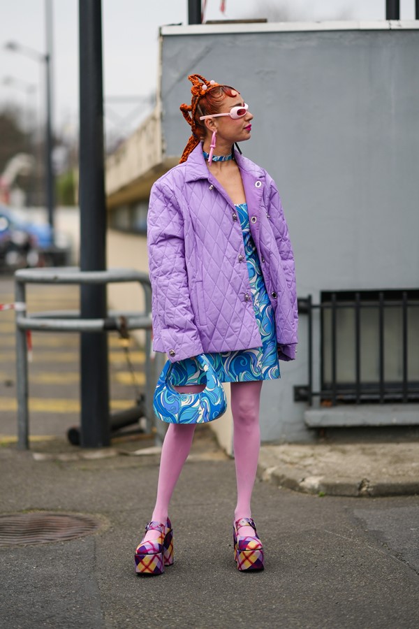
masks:
<svg viewBox="0 0 419 629"><path fill-rule="evenodd" d="M300 19L330 20L345 15L353 20L383 20L385 0L270 0L288 5ZM207 0L207 20L239 19L256 15L260 0ZM78 122L78 0L53 0L54 126L76 133ZM185 24L187 0L103 0L103 73L105 97L148 96L156 90L158 31L162 24ZM415 0L401 0L402 20L415 17ZM344 13L343 13L344 12ZM16 41L45 52L45 0L0 0L0 108L3 103L25 107L24 83L36 85L33 99L43 116L41 64L3 45ZM20 89L6 86L4 78L19 80ZM141 105L108 100L106 124L114 132L138 119Z"/></svg>

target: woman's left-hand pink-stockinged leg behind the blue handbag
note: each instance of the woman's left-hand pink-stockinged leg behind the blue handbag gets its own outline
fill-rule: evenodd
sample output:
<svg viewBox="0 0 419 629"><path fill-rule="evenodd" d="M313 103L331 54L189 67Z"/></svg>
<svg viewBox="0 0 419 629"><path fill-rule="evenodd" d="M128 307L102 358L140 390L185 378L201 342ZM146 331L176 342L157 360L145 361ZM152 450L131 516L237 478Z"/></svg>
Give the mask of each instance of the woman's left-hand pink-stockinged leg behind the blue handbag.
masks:
<svg viewBox="0 0 419 629"><path fill-rule="evenodd" d="M200 393L205 389L205 385L175 386L175 389L179 393ZM154 521L166 523L170 498L191 449L195 427L196 424L170 424L168 427L161 449L157 498L152 514ZM149 530L144 541L153 540L156 537L159 537L159 532Z"/></svg>

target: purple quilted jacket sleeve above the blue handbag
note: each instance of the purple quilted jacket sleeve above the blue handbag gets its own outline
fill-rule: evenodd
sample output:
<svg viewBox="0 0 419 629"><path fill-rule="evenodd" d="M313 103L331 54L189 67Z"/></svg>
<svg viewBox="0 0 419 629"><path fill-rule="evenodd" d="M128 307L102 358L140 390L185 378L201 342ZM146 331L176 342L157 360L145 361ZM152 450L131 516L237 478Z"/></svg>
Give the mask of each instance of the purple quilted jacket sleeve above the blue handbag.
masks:
<svg viewBox="0 0 419 629"><path fill-rule="evenodd" d="M153 321L158 323L164 351L171 362L202 354L189 297L184 219L175 195L162 182L156 182L150 194L147 250Z"/></svg>

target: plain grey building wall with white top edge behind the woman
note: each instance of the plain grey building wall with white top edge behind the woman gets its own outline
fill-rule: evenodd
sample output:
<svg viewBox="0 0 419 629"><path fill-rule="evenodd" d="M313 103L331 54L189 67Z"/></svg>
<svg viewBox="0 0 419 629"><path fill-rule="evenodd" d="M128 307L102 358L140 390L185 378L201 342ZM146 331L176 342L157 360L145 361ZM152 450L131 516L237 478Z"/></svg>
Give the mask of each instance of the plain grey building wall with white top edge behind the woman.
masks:
<svg viewBox="0 0 419 629"><path fill-rule="evenodd" d="M254 115L242 150L279 187L298 295L417 288L418 22L278 26L162 29L166 154L189 138L187 75L233 85ZM297 361L281 364L281 381L264 384L262 438L308 441L306 405L293 402L307 384L304 315Z"/></svg>

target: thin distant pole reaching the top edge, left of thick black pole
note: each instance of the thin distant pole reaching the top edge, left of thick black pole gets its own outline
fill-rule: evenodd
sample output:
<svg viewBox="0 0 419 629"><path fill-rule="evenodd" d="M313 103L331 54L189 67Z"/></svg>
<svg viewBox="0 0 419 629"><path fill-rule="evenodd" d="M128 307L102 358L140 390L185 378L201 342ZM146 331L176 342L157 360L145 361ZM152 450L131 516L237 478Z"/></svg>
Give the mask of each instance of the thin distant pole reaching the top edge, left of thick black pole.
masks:
<svg viewBox="0 0 419 629"><path fill-rule="evenodd" d="M47 120L45 129L45 167L46 167L46 192L48 223L54 233L54 206L55 206L55 182L52 169L52 4L51 0L45 1L45 32L47 36L47 54L45 55L45 89Z"/></svg>

